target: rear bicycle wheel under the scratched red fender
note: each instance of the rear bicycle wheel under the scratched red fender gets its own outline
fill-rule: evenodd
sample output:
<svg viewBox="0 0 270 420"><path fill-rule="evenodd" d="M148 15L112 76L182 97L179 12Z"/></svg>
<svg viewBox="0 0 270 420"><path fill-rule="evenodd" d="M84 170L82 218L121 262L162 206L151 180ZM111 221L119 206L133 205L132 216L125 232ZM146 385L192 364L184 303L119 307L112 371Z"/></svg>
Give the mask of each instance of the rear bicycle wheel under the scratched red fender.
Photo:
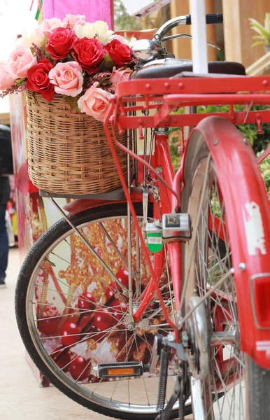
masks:
<svg viewBox="0 0 270 420"><path fill-rule="evenodd" d="M190 214L193 229L192 239L185 244L183 290L194 419L267 420L270 372L240 350L229 220L201 134L190 137L184 177L182 211ZM209 294L211 288L215 290Z"/></svg>

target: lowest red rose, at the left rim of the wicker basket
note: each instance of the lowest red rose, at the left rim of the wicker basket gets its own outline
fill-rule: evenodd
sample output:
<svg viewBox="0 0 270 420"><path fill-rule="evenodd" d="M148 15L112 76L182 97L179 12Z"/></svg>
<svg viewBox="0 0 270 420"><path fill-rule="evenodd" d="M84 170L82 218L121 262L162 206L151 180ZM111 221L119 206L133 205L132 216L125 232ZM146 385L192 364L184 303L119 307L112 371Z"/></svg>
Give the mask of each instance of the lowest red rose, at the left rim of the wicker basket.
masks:
<svg viewBox="0 0 270 420"><path fill-rule="evenodd" d="M43 58L27 71L27 89L40 93L48 102L51 102L55 94L49 79L49 71L52 68L52 63L47 58Z"/></svg>

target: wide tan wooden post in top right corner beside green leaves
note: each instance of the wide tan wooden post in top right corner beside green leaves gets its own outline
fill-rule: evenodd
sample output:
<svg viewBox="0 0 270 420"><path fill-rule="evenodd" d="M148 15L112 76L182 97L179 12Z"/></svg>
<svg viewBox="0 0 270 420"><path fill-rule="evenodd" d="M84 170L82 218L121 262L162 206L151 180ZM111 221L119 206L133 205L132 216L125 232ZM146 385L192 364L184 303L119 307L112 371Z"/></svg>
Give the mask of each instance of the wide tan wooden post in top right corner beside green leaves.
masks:
<svg viewBox="0 0 270 420"><path fill-rule="evenodd" d="M222 0L222 8L226 59L250 66L265 52L262 45L251 48L255 31L250 29L248 18L264 25L265 13L270 11L269 0Z"/></svg>

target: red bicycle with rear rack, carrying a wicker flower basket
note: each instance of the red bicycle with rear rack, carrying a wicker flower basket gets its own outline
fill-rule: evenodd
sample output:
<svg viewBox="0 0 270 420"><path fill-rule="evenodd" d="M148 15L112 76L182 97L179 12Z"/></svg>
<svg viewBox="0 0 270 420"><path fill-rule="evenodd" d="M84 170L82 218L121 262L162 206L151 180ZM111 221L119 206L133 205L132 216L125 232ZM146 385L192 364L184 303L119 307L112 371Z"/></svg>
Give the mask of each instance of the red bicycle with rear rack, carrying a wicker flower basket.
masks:
<svg viewBox="0 0 270 420"><path fill-rule="evenodd" d="M235 124L270 122L270 110L251 107L269 104L270 76L229 62L192 73L161 44L185 24L188 15L134 45L134 78L118 86L105 122L122 189L71 202L70 216L52 198L64 218L24 261L17 323L41 372L94 411L268 420L269 201ZM229 112L196 113L213 104ZM176 174L171 127L185 127ZM115 130L128 130L127 148Z"/></svg>

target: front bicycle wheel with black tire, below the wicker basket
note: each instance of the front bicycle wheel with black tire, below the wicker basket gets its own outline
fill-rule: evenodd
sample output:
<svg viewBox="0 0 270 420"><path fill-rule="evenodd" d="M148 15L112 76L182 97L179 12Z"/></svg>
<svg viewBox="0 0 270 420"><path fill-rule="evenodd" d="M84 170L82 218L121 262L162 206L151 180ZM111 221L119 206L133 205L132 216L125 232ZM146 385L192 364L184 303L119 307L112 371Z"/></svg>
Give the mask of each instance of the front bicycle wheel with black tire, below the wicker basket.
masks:
<svg viewBox="0 0 270 420"><path fill-rule="evenodd" d="M135 208L142 224L142 205L136 204ZM140 360L147 364L155 333L169 332L156 300L143 315L149 319L150 329L127 330L127 297L106 270L109 267L127 286L127 205L106 205L83 211L71 219L101 260L97 260L64 220L36 241L24 260L15 297L17 324L24 345L45 377L81 405L120 419L138 419L138 416L155 419L158 366L154 375L145 373L142 377L113 381L97 379L91 371L97 363ZM131 241L136 309L141 292L150 281L150 273L143 254L138 255L133 224ZM173 292L169 281L165 264L160 289L167 308L171 307L170 314ZM168 398L177 373L173 356ZM189 403L187 414L190 409ZM176 405L171 418L177 414Z"/></svg>

